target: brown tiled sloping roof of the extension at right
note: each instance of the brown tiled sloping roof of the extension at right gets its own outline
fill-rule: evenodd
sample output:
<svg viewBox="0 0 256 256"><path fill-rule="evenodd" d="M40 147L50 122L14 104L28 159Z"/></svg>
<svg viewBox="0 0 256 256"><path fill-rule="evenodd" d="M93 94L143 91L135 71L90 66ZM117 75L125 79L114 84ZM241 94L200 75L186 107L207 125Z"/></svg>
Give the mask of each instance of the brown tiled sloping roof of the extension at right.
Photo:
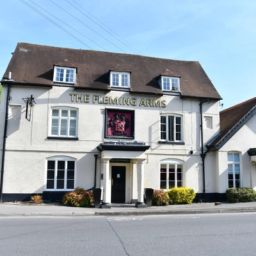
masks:
<svg viewBox="0 0 256 256"><path fill-rule="evenodd" d="M207 148L219 150L256 113L256 97L220 112L220 134Z"/></svg>

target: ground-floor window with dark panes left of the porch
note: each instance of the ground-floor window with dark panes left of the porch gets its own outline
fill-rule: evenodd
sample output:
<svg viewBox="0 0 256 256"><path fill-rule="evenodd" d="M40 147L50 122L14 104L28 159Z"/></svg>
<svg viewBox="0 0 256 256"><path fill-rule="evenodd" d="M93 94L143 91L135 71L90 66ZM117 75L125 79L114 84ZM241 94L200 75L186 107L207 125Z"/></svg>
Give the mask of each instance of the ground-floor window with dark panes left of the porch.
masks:
<svg viewBox="0 0 256 256"><path fill-rule="evenodd" d="M75 173L76 161L74 159L48 159L46 189L74 189Z"/></svg>

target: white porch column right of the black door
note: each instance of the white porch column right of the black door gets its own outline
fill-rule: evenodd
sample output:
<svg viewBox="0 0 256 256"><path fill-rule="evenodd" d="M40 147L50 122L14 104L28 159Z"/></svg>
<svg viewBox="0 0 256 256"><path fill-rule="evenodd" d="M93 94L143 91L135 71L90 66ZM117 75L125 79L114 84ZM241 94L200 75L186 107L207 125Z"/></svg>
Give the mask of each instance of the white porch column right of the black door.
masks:
<svg viewBox="0 0 256 256"><path fill-rule="evenodd" d="M138 202L136 203L136 207L145 208L144 204L144 159L138 159L136 161L137 165L137 179L138 179Z"/></svg>

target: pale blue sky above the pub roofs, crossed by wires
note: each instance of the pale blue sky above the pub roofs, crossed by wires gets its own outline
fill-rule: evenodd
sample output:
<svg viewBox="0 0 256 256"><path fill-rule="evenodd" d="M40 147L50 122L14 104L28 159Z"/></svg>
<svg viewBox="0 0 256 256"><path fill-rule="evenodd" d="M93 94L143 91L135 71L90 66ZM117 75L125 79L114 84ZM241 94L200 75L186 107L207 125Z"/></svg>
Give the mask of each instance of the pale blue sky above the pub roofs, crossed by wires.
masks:
<svg viewBox="0 0 256 256"><path fill-rule="evenodd" d="M255 0L6 0L0 76L17 42L199 61L222 110L256 97L255 13Z"/></svg>

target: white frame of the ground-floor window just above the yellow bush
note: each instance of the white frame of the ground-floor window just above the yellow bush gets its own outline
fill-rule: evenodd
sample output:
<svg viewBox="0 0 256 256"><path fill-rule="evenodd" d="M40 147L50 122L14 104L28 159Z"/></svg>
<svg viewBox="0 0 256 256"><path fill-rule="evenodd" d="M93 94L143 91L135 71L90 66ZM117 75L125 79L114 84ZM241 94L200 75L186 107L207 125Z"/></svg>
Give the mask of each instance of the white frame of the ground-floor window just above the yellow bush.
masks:
<svg viewBox="0 0 256 256"><path fill-rule="evenodd" d="M164 172L164 168L166 167L166 172ZM181 172L178 172L181 167ZM174 168L174 172L168 172L170 168ZM165 159L160 162L159 166L159 180L160 180L160 189L164 189L165 191L170 190L171 188L180 188L184 186L184 162L178 159ZM161 173L166 173L166 179L161 177ZM174 180L170 180L170 173L174 173ZM179 179L180 177L180 179ZM166 186L163 186L164 182L166 182ZM169 182L174 182L174 186L170 185Z"/></svg>

